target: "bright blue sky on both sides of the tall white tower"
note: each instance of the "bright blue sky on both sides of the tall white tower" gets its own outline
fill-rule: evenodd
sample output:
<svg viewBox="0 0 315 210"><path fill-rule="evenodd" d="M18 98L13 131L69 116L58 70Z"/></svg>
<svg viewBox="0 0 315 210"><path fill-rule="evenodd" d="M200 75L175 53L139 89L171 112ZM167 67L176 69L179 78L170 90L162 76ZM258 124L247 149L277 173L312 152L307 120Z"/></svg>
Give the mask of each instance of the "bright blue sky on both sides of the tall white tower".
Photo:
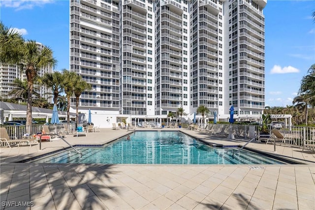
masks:
<svg viewBox="0 0 315 210"><path fill-rule="evenodd" d="M69 1L1 0L4 25L52 48L56 70L69 69ZM265 15L266 106L292 105L315 64L314 0L268 0Z"/></svg>

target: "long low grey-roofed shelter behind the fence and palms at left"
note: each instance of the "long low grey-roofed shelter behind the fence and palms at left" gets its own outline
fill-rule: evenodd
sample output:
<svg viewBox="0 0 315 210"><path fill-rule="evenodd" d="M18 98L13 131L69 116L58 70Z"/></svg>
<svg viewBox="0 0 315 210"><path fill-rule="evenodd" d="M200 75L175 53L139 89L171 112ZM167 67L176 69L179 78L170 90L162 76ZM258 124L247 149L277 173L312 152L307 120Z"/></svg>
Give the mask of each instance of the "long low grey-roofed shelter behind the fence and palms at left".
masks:
<svg viewBox="0 0 315 210"><path fill-rule="evenodd" d="M4 122L4 119L7 118L7 121L13 120L14 117L26 117L26 105L18 105L8 102L0 102L0 124ZM39 108L32 107L32 117L33 118L46 118L48 122L49 118L52 117L53 110L49 108ZM66 111L58 111L58 116L66 118ZM76 113L70 112L70 117L75 117Z"/></svg>

